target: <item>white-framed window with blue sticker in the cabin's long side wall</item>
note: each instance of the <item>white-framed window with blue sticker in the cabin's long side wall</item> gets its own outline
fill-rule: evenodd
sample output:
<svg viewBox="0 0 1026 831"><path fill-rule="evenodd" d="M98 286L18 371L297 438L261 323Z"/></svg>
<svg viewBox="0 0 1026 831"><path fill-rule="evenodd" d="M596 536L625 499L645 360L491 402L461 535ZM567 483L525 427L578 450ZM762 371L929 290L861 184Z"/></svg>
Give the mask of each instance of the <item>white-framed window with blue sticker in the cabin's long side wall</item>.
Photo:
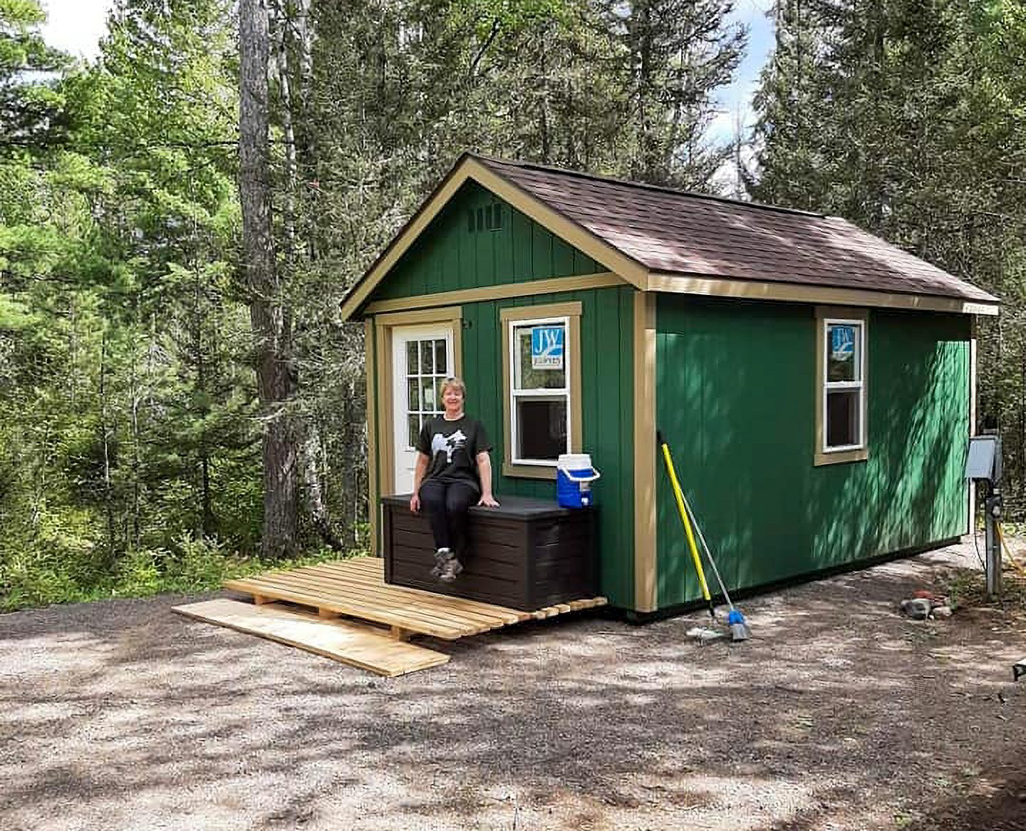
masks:
<svg viewBox="0 0 1026 831"><path fill-rule="evenodd" d="M822 320L823 453L862 450L866 446L866 321Z"/></svg>

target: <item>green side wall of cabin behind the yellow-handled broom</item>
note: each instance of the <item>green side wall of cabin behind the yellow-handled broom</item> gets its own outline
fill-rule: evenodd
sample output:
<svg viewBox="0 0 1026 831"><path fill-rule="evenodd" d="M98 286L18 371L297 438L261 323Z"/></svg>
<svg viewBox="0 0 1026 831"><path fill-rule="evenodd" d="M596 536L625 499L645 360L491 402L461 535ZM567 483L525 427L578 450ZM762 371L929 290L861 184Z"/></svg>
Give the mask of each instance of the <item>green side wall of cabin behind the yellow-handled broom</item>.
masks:
<svg viewBox="0 0 1026 831"><path fill-rule="evenodd" d="M969 318L872 310L869 459L813 466L808 306L662 295L657 407L728 586L925 546L966 527ZM660 464L659 603L699 596Z"/></svg>

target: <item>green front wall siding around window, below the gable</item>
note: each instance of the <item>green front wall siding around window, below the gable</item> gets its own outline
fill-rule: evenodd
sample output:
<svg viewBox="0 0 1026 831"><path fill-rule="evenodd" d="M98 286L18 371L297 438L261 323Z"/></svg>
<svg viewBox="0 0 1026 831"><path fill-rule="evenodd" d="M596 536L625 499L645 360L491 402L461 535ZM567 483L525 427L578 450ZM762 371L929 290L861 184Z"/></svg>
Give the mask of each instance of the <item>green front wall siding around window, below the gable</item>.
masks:
<svg viewBox="0 0 1026 831"><path fill-rule="evenodd" d="M500 311L549 303L581 303L581 388L584 451L602 478L595 484L599 528L600 591L614 605L634 600L633 298L630 287L475 303L463 307L463 372L467 411L479 418L492 438L496 494L555 499L551 480L502 475L507 436L503 425L503 332Z"/></svg>

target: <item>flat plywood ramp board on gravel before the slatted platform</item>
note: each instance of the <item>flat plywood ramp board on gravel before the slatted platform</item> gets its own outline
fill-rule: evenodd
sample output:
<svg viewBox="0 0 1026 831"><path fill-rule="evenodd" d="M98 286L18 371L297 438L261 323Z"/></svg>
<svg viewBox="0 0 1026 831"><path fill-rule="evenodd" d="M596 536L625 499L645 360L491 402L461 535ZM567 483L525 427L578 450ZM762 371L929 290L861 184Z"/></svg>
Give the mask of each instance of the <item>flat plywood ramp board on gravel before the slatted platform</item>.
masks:
<svg viewBox="0 0 1026 831"><path fill-rule="evenodd" d="M447 655L391 638L377 627L325 621L278 603L256 606L238 600L207 600L175 606L173 611L390 677L448 661Z"/></svg>

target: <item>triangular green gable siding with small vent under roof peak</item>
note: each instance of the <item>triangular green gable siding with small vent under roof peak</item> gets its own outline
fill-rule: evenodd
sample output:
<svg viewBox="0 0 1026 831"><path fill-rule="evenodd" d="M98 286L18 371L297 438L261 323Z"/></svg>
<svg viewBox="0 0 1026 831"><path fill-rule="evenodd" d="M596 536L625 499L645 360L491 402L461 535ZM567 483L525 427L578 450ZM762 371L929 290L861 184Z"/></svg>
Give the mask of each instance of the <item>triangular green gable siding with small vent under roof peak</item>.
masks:
<svg viewBox="0 0 1026 831"><path fill-rule="evenodd" d="M502 228L471 231L468 212L491 204L502 205ZM369 300L395 300L602 271L606 271L604 266L476 183L467 182L399 259Z"/></svg>

